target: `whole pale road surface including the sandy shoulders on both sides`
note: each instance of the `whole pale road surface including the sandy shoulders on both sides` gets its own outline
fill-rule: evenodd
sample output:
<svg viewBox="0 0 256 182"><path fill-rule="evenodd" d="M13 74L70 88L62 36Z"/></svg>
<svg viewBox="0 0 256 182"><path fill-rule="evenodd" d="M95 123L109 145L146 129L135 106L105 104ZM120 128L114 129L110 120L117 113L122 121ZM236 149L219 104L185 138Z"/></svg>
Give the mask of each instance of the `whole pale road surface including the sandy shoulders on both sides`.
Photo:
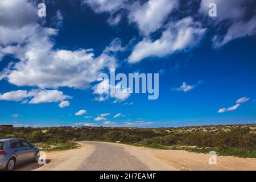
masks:
<svg viewBox="0 0 256 182"><path fill-rule="evenodd" d="M255 158L217 156L217 164L208 163L209 155L181 150L158 150L106 142L79 142L81 147L47 153L47 164L27 163L16 170L254 170Z"/></svg>

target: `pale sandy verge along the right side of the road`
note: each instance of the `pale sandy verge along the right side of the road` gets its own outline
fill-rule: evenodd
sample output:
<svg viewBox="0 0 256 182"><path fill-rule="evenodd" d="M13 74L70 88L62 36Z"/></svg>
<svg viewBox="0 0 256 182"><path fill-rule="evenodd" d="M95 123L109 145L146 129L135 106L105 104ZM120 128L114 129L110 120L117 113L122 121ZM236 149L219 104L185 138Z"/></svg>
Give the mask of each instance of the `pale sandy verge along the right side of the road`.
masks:
<svg viewBox="0 0 256 182"><path fill-rule="evenodd" d="M127 151L136 151L140 155L148 154L178 170L256 170L255 158L238 158L233 156L217 156L217 164L208 163L209 155L181 150L158 150L146 147L127 146L120 144Z"/></svg>

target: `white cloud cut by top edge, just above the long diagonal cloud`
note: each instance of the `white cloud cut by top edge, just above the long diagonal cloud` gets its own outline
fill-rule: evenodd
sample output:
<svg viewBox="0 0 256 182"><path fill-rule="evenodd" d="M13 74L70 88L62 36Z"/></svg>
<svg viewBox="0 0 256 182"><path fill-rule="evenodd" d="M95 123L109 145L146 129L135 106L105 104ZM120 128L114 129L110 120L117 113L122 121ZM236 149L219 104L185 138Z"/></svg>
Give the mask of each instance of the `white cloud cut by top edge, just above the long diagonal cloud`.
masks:
<svg viewBox="0 0 256 182"><path fill-rule="evenodd" d="M143 35L149 35L160 28L168 15L179 5L179 1L173 0L149 0L146 2L129 0L84 0L86 5L92 7L96 13L109 13L110 24L117 24L122 16L129 19L130 23L136 23Z"/></svg>

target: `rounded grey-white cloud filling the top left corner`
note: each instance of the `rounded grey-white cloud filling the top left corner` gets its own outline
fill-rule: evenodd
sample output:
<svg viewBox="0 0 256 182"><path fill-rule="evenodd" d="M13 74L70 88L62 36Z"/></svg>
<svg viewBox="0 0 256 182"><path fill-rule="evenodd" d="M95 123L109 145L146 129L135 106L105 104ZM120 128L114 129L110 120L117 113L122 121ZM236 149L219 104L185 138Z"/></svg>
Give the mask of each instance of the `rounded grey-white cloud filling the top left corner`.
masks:
<svg viewBox="0 0 256 182"><path fill-rule="evenodd" d="M27 0L0 1L0 46L20 43L33 32L37 10Z"/></svg>

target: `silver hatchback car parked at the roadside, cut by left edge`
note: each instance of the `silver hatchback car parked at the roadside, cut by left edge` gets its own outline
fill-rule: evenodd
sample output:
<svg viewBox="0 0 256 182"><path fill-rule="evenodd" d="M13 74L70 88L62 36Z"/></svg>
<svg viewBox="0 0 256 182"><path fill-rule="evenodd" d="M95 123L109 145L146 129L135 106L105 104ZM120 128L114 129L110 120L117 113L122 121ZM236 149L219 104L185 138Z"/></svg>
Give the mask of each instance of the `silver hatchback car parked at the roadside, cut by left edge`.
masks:
<svg viewBox="0 0 256 182"><path fill-rule="evenodd" d="M0 139L0 169L12 171L16 164L40 157L38 147L24 139Z"/></svg>

